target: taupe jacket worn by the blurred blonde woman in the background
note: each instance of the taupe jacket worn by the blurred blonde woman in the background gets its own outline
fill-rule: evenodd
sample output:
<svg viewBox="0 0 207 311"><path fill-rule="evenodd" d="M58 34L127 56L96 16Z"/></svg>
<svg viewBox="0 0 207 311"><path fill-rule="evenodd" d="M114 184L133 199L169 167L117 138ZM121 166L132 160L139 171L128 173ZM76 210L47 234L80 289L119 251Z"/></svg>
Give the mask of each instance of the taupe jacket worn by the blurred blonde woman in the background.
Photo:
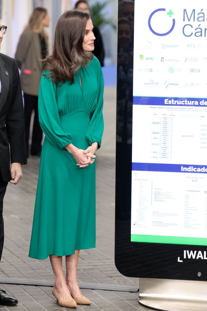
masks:
<svg viewBox="0 0 207 311"><path fill-rule="evenodd" d="M16 63L21 69L21 87L24 93L38 96L43 62L39 34L25 30L17 45Z"/></svg>

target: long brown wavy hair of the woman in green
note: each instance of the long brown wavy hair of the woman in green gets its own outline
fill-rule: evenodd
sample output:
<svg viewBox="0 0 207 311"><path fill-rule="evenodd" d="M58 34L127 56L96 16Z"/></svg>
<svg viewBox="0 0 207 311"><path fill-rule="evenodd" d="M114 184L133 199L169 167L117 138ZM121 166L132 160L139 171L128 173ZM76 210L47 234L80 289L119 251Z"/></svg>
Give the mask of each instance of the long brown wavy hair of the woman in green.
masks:
<svg viewBox="0 0 207 311"><path fill-rule="evenodd" d="M52 81L58 83L69 80L74 83L75 73L93 58L84 51L85 27L90 19L88 13L73 10L63 13L55 29L53 53L44 60L44 69L50 73Z"/></svg>

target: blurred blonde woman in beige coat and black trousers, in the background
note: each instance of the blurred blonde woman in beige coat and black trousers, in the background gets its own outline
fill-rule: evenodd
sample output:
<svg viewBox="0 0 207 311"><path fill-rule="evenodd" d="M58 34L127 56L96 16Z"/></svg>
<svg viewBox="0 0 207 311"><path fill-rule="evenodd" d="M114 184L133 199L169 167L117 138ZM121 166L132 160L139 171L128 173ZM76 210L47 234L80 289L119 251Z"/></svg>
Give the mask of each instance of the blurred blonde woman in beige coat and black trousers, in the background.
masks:
<svg viewBox="0 0 207 311"><path fill-rule="evenodd" d="M22 33L15 59L21 69L21 86L24 92L25 141L29 156L30 120L34 110L31 155L41 153L42 129L38 118L38 92L44 59L47 55L48 38L44 27L49 26L49 16L43 7L36 7L32 12L28 26Z"/></svg>

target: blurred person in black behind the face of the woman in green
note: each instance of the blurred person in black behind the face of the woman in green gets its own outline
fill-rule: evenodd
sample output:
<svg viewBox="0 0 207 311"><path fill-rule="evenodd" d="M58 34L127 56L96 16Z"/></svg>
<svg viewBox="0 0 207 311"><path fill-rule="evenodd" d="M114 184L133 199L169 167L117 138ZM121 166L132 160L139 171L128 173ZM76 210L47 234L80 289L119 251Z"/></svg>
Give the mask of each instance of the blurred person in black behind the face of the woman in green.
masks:
<svg viewBox="0 0 207 311"><path fill-rule="evenodd" d="M75 4L75 9L81 10L82 12L86 12L86 13L90 14L88 2L85 0L77 1ZM101 66L103 67L104 66L104 56L105 56L104 45L103 45L103 41L102 41L100 31L96 26L94 26L94 36L96 39L94 41L93 54L98 58Z"/></svg>

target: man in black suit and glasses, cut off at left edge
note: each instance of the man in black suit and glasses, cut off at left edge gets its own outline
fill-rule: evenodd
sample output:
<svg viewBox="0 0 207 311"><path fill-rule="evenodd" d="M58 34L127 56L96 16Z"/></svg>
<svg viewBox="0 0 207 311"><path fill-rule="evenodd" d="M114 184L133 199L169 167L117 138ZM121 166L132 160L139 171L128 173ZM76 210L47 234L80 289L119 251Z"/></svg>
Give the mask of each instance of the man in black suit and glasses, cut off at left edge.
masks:
<svg viewBox="0 0 207 311"><path fill-rule="evenodd" d="M2 26L0 21L0 49L6 29L7 27ZM13 58L0 53L0 260L4 243L3 197L7 183L17 184L22 178L21 164L26 164L26 161L19 70ZM7 295L0 289L0 305L17 303L15 297Z"/></svg>

